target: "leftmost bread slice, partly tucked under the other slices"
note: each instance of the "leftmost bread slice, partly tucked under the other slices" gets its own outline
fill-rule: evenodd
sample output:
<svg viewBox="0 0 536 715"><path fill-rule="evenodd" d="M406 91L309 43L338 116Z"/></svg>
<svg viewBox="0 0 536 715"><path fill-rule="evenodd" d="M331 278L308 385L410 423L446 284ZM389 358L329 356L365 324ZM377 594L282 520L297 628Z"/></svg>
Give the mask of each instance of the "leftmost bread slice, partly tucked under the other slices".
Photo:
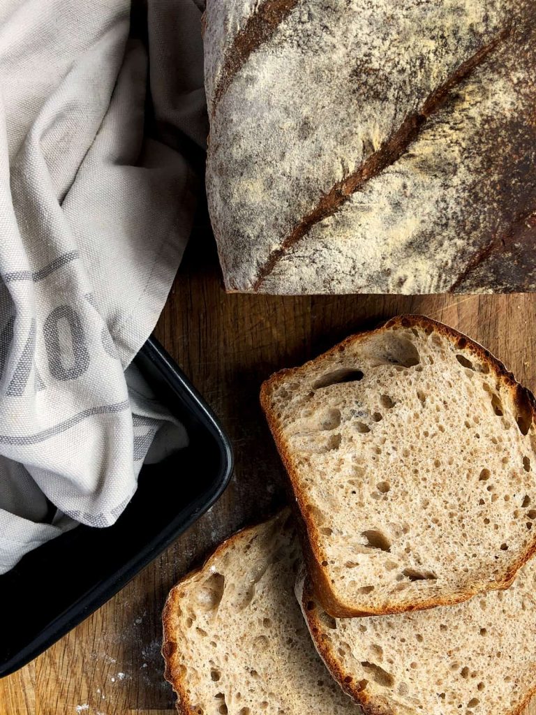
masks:
<svg viewBox="0 0 536 715"><path fill-rule="evenodd" d="M359 713L314 649L294 597L302 561L289 511L241 531L164 609L167 680L184 715Z"/></svg>

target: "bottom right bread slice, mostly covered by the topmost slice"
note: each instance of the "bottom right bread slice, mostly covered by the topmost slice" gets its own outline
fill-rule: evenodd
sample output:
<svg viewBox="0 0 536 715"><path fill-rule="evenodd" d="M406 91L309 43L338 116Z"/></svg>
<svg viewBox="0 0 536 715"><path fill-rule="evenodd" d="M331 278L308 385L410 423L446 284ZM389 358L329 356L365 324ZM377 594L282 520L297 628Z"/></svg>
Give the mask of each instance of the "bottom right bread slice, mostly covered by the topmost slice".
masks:
<svg viewBox="0 0 536 715"><path fill-rule="evenodd" d="M536 560L507 591L372 618L297 597L332 676L367 715L517 715L536 691Z"/></svg>

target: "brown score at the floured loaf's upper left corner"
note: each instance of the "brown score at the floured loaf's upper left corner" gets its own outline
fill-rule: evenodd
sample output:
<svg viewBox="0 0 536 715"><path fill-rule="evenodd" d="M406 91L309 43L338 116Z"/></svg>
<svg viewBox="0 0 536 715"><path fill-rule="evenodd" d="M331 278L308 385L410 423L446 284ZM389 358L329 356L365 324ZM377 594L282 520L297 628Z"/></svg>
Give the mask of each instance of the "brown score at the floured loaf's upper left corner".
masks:
<svg viewBox="0 0 536 715"><path fill-rule="evenodd" d="M233 44L225 55L222 76L214 89L212 116L216 112L219 100L229 89L234 75L242 69L256 49L272 39L279 24L297 4L298 0L266 0L254 14L249 16L244 28L234 37Z"/></svg>

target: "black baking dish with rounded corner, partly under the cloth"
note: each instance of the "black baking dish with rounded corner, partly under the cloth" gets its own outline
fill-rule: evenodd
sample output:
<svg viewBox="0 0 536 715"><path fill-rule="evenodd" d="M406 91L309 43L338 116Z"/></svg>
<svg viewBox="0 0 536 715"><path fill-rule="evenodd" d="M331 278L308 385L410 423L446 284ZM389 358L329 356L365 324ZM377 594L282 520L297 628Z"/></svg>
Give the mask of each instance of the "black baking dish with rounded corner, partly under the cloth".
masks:
<svg viewBox="0 0 536 715"><path fill-rule="evenodd" d="M231 446L204 400L154 338L135 362L182 420L189 445L159 464L144 465L138 490L114 526L79 526L0 576L0 677L34 659L114 596L227 486Z"/></svg>

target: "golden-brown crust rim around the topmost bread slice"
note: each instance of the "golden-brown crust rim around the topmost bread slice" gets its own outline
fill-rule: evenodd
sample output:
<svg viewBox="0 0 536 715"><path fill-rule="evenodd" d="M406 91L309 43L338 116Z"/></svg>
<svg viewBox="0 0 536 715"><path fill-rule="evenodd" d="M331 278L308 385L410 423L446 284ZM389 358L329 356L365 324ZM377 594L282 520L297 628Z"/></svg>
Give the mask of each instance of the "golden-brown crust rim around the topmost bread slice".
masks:
<svg viewBox="0 0 536 715"><path fill-rule="evenodd" d="M377 335L381 332L384 332L385 330L389 330L392 327L420 327L422 330L425 330L425 332L437 332L438 334L447 338L447 340L450 340L450 342L454 342L455 345L457 345L458 347L463 348L465 350L469 350L473 353L473 355L475 355L475 358L478 358L481 363L484 363L485 365L487 365L488 368L490 368L490 372L495 374L497 380L501 380L502 383L510 390L513 402L517 406L519 406L520 409L524 410L525 408L528 408L528 410L530 410L530 418L532 422L536 422L536 400L534 395L530 390L524 388L522 385L520 385L520 383L517 382L517 380L515 380L514 375L505 368L505 365L503 365L500 360L497 360L497 358L495 358L489 350L486 350L485 347L482 347L482 345L480 345L480 343L478 342L475 342L475 340L471 340L471 338L467 337L467 335L458 332L457 330L448 325L444 325L441 322L432 320L432 318L427 317L426 315L397 315L396 317L392 317L391 319L387 320L382 325L374 328L373 330L367 330L364 332L359 332L355 335L350 335L342 342L339 342L338 345L335 345L319 357L329 358L331 355L336 354L340 350L344 350L344 347L346 345L349 345L353 342L363 342L372 335ZM383 616L392 613L421 611L426 610L427 608L435 608L435 606L450 606L454 605L455 603L462 603L463 601L467 601L469 598L472 598L472 596L475 596L477 593L482 593L482 586L475 583L472 588L467 588L466 591L457 595L453 594L451 598L430 598L428 601L423 601L422 603L406 604L405 606L399 606L396 603L392 603L387 604L387 606L385 606L384 608L370 608L367 611L363 611L360 608L355 608L354 606L352 606L352 604L343 603L342 601L339 601L339 599L337 599L337 596L332 589L331 583L329 582L327 573L324 571L324 568L322 568L322 547L318 539L314 536L314 520L307 513L305 495L299 488L299 479L292 463L292 457L284 445L284 440L282 439L280 430L277 427L277 419L272 412L272 408L270 405L270 395L272 391L277 388L277 385L279 385L282 380L288 378L289 375L293 375L298 370L303 370L304 368L307 368L307 366L312 365L312 363L316 362L317 360L319 360L319 358L316 358L315 360L309 360L307 363L305 363L299 368L290 368L286 370L280 370L278 373L274 373L274 375L268 378L268 380L265 380L262 384L260 402L262 405L262 409L264 410L264 414L266 415L269 428L274 437L274 441L277 445L277 450L279 451L279 455L281 456L282 462L284 463L284 466L287 471L289 483L294 494L294 504L297 511L297 521L300 525L299 535L302 541L302 549L304 552L305 561L307 563L309 574L312 578L314 591L317 595L319 602L322 603L322 608L324 608L324 611L329 613L329 615L333 616L334 618ZM512 585L512 582L515 580L517 571L519 571L519 569L525 563L527 563L527 561L529 561L535 553L536 533L532 536L532 541L529 541L529 543L527 544L527 548L525 548L525 552L522 553L522 556L518 558L517 561L515 561L510 567L510 569L507 571L507 573L505 574L505 578L486 583L486 590L503 591L506 588L509 588ZM380 713L379 715L384 714Z"/></svg>

